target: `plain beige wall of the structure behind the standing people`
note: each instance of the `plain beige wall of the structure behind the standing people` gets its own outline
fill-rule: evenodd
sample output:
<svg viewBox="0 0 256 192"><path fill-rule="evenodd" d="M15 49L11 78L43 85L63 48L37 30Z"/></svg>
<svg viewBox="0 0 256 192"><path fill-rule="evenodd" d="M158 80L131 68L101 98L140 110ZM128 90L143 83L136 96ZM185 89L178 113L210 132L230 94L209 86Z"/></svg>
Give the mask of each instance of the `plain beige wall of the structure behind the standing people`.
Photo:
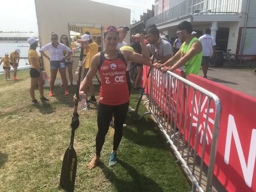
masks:
<svg viewBox="0 0 256 192"><path fill-rule="evenodd" d="M41 46L50 42L52 32L58 34L59 38L62 34L68 35L69 22L102 25L104 28L109 25L116 27L125 25L130 27L130 9L89 0L73 0L72 5L78 5L74 8L77 14L70 15L70 6L66 6L68 4L70 4L70 0L35 0ZM130 31L124 39L128 44L130 44L129 37ZM49 55L48 52L46 54ZM78 67L78 60L79 58L74 58L73 75ZM50 75L50 62L46 58L43 58L43 61L45 71ZM55 84L60 83L61 78L58 73ZM73 83L76 84L75 75Z"/></svg>

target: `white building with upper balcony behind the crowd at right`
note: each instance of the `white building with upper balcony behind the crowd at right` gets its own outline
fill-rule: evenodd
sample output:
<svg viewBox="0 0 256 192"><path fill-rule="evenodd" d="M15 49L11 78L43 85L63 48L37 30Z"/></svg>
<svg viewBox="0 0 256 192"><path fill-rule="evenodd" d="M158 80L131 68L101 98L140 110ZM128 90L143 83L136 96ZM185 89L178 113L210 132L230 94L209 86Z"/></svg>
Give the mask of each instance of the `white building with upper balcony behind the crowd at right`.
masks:
<svg viewBox="0 0 256 192"><path fill-rule="evenodd" d="M239 56L247 6L243 60L256 60L256 0L156 0L155 16L146 26L156 24L161 32L175 38L177 25L186 20L199 36L210 28L216 47L231 49Z"/></svg>

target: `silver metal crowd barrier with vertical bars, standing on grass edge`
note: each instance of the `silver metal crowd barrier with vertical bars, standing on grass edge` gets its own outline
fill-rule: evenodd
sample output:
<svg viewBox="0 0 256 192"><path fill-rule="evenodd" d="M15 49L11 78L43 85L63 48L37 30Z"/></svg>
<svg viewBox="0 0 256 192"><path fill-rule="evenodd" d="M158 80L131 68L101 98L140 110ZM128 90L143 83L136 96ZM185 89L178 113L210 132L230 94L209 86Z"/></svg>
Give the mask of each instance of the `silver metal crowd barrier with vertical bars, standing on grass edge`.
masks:
<svg viewBox="0 0 256 192"><path fill-rule="evenodd" d="M178 81L178 82L177 82ZM174 82L174 83L173 83ZM177 82L177 83L176 83ZM168 91L162 91L164 88L169 88ZM190 96L190 89L193 90L193 97L192 97L192 109L195 108L195 96L196 92L200 93L199 105L197 106L198 111L198 119L197 124L192 124L192 120L194 118L194 110L191 110L191 118L188 115L188 105L189 105L189 97ZM176 94L175 94L176 92ZM182 94L180 95L180 93ZM176 97L175 97L176 95ZM195 163L196 163L196 151L198 147L198 131L201 130L202 126L199 128L200 116L202 111L202 98L208 97L208 104L207 104L207 112L206 112L206 121L204 125L204 133L203 134L203 143L201 143L202 154L201 162L200 162L200 173L199 178L195 176ZM192 179L192 192L196 191L196 188L199 192L204 192L202 188L202 170L204 164L204 153L206 147L206 137L208 142L207 136L207 128L208 128L208 121L209 121L209 113L210 113L210 103L214 102L215 105L215 114L214 114L214 125L213 125L213 133L212 133L212 143L210 146L210 161L207 162L208 164L208 173L207 173L207 180L206 180L206 192L212 191L212 178L214 174L214 165L216 159L216 150L218 144L218 135L220 130L220 117L221 117L221 103L218 96L209 92L208 90L174 74L172 72L167 72L163 74L162 70L158 70L154 68L151 71L150 76L150 94L149 94L149 112L146 112L140 116L138 120L140 120L146 114L152 114L158 123L158 126L161 128L164 136L170 143L172 150L178 156L178 160L182 162L184 168L188 172L189 176ZM176 102L176 107L174 106L174 102ZM190 102L190 103L191 103ZM180 103L179 107L177 104ZM197 101L196 101L196 104ZM204 100L204 105L206 104ZM174 107L172 107L174 106ZM171 110L171 113L170 113ZM178 115L179 111L179 115ZM206 111L206 110L205 110ZM184 113L185 112L185 113ZM211 109L211 112L212 109ZM168 114L166 114L168 113ZM188 124L187 121L190 123ZM210 119L212 122L212 119ZM178 124L178 126L176 126ZM196 135L192 135L192 125L196 127ZM188 133L186 133L188 131ZM188 138L186 138L186 135ZM194 138L195 137L195 138ZM186 138L186 139L185 139ZM202 135L201 135L202 140ZM191 142L194 141L194 148L192 148ZM192 158L192 169L190 168L189 164L191 164L191 157Z"/></svg>

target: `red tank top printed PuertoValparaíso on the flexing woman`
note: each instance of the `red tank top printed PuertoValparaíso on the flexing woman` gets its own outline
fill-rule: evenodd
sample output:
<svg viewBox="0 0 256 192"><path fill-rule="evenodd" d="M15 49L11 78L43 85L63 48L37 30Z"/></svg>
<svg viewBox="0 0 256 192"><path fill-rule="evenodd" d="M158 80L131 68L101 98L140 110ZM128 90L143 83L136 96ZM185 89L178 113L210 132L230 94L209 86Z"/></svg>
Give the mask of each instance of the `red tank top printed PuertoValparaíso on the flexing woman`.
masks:
<svg viewBox="0 0 256 192"><path fill-rule="evenodd" d="M126 80L127 64L122 52L117 49L118 56L114 60L100 52L99 73L101 78L99 102L106 105L121 105L130 100Z"/></svg>

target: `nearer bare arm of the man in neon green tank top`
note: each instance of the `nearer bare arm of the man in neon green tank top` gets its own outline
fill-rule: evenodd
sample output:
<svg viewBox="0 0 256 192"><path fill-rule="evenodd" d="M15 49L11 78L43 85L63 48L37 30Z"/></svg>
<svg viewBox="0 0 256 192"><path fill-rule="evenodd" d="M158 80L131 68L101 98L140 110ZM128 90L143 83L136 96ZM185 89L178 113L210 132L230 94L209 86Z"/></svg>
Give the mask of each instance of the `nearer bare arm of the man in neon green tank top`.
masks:
<svg viewBox="0 0 256 192"><path fill-rule="evenodd" d="M191 45L190 50L188 50L188 52L185 54L185 56L183 56L176 64L174 64L172 67L167 67L165 66L163 68L163 72L166 71L174 71L182 66L184 66L186 64L186 62L188 62L193 56L195 56L196 54L200 54L202 52L203 48L202 48L202 44L200 41L194 41ZM178 52L181 52L180 50ZM177 52L177 53L178 53ZM167 62L166 62L167 63Z"/></svg>

